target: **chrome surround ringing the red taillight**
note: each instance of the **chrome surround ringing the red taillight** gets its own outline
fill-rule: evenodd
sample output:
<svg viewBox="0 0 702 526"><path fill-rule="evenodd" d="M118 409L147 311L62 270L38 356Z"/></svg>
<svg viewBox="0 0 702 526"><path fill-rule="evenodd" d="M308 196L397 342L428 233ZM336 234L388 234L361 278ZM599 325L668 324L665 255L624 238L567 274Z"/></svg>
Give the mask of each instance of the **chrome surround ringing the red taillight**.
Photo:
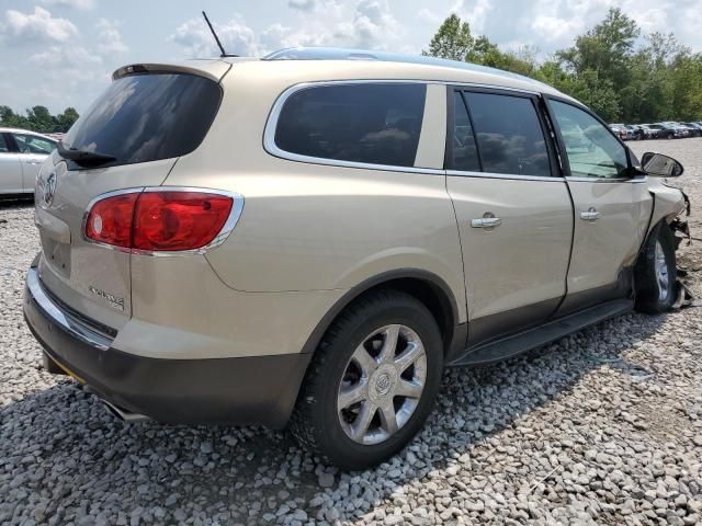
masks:
<svg viewBox="0 0 702 526"><path fill-rule="evenodd" d="M88 221L88 216L90 215L90 210L99 201L105 199L107 197L114 197L115 195L123 194L133 194L133 193L152 193L152 192L204 192L208 194L217 194L217 195L226 195L227 197L231 197L231 210L229 211L229 217L222 227L222 230L215 239L213 239L210 244L205 247L201 247L200 249L193 250L139 250L139 249L128 249L124 247L115 247L114 244L102 243L100 241L94 241L86 237L86 222ZM106 192L104 194L100 194L93 199L90 201L86 211L83 213L82 224L80 226L81 236L83 241L90 244L94 244L98 247L104 247L105 249L115 250L117 252L124 252L126 254L135 254L135 255L148 255L155 258L171 258L171 256L181 256L181 255L203 255L210 252L213 249L216 249L222 243L224 243L236 227L239 218L241 217L241 213L244 211L244 196L237 192L229 192L226 190L217 190L217 188L204 188L200 186L139 186L135 188L124 188L124 190L115 190L112 192Z"/></svg>

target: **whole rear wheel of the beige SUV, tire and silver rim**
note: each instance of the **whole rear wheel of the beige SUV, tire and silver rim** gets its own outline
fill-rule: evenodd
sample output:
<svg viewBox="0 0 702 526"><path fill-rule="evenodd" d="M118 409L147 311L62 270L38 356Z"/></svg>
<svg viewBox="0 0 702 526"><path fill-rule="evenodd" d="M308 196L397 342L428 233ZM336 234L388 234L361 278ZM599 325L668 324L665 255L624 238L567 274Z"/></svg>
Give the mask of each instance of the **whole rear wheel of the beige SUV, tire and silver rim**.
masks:
<svg viewBox="0 0 702 526"><path fill-rule="evenodd" d="M422 427L442 369L441 333L427 307L401 291L372 293L325 335L291 431L327 464L344 470L375 466Z"/></svg>

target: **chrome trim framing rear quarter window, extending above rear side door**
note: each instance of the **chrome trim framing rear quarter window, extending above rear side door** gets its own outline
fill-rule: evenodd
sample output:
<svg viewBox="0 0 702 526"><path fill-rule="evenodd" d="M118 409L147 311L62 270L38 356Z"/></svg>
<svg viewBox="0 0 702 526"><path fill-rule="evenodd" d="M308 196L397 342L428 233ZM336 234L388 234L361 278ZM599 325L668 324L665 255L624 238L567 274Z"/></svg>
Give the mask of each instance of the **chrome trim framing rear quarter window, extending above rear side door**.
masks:
<svg viewBox="0 0 702 526"><path fill-rule="evenodd" d="M325 165L340 167L340 168L361 168L364 170L384 170L387 172L430 173L430 174L441 174L441 175L445 173L444 170L440 170L435 168L396 167L392 164L372 164L372 163L365 163L365 162L342 161L337 159L325 159L321 157L302 156L299 153L293 153L279 148L278 145L275 144L275 128L278 127L278 119L280 117L281 111L283 110L283 106L285 105L285 102L287 101L287 99L293 93L296 93L301 90L325 87L325 85L338 85L338 84L424 84L424 85L441 84L441 85L456 85L456 87L467 87L467 88L513 91L513 92L524 93L529 95L541 94L537 91L522 90L518 88L506 88L501 85L479 84L475 82L449 82L445 80L352 79L352 80L324 80L324 81L314 81L314 82L301 82L301 83L291 85L285 91L283 91L273 103L273 107L271 108L271 112L265 122L265 128L263 130L263 149L268 151L271 156L278 157L280 159L286 159L288 161L296 161L296 162L307 162L312 164L325 164ZM423 122L422 122L422 127L423 127Z"/></svg>

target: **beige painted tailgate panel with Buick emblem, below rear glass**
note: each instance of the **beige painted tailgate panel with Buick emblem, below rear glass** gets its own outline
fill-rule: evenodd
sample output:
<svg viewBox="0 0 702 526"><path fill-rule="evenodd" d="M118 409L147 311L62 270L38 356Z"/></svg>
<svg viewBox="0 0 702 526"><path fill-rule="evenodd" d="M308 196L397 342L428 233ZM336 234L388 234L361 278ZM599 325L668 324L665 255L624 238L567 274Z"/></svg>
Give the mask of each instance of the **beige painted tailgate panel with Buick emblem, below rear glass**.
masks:
<svg viewBox="0 0 702 526"><path fill-rule="evenodd" d="M83 217L98 195L161 184L174 162L166 159L68 170L67 163L56 155L46 161L38 178L35 222L44 255L38 265L39 278L50 294L114 329L127 321L132 312L129 254L87 241Z"/></svg>

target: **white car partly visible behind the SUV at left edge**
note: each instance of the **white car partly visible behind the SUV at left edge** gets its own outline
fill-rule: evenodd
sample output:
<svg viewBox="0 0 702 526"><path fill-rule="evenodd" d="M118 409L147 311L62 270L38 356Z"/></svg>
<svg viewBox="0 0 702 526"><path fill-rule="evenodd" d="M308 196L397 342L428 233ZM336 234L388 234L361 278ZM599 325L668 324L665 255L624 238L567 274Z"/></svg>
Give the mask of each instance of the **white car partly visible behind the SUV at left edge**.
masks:
<svg viewBox="0 0 702 526"><path fill-rule="evenodd" d="M34 132L0 128L0 195L33 193L36 174L56 144Z"/></svg>

